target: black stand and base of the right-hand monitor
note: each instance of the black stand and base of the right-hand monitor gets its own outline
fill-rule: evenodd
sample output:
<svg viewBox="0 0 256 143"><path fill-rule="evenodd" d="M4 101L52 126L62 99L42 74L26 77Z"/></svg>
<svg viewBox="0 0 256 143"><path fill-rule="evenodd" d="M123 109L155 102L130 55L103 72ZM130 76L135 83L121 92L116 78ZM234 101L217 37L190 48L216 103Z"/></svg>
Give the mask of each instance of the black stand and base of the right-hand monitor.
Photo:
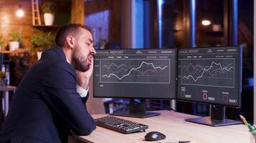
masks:
<svg viewBox="0 0 256 143"><path fill-rule="evenodd" d="M225 119L225 109L224 106L211 106L211 117L200 117L200 118L192 118L192 119L185 119L187 122L194 122L198 124L205 124L212 127L219 127L219 126L227 126L232 124L242 124L241 121L236 121L232 119Z"/></svg>

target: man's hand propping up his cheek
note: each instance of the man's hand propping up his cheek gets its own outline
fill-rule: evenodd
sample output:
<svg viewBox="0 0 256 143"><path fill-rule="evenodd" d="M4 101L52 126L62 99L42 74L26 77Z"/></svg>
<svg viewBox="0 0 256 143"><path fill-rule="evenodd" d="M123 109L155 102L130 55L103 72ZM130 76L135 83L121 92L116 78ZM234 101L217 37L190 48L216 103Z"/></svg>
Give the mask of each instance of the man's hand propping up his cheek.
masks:
<svg viewBox="0 0 256 143"><path fill-rule="evenodd" d="M83 72L76 69L76 84L83 89L87 89L91 74L93 74L93 59L91 60L91 64L87 71Z"/></svg>

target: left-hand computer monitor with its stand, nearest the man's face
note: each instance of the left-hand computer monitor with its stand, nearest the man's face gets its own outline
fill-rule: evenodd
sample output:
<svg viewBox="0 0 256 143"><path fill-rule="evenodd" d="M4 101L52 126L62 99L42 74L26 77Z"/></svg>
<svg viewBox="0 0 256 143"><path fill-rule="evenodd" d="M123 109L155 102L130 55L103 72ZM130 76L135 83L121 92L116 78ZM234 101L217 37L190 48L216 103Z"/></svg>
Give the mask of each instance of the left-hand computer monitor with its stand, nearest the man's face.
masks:
<svg viewBox="0 0 256 143"><path fill-rule="evenodd" d="M99 49L93 59L93 97L130 99L129 112L115 115L156 116L145 99L175 98L176 49Z"/></svg>

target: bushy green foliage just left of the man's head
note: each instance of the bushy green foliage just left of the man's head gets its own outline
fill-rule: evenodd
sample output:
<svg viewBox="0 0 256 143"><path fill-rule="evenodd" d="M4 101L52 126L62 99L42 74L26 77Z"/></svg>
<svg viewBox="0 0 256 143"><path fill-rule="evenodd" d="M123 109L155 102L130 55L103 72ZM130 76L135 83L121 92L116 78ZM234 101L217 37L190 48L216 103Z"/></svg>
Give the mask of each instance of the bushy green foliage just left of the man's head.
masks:
<svg viewBox="0 0 256 143"><path fill-rule="evenodd" d="M55 45L55 35L52 32L40 31L39 34L32 36L31 43L37 51L43 51L45 49L50 49Z"/></svg>

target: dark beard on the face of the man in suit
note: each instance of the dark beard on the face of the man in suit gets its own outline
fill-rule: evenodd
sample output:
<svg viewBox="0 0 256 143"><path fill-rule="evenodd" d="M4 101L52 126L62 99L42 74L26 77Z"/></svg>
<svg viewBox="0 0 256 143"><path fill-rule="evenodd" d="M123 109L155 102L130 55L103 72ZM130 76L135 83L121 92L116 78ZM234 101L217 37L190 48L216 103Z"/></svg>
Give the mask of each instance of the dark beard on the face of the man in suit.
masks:
<svg viewBox="0 0 256 143"><path fill-rule="evenodd" d="M90 64L88 63L89 54L87 56L83 56L78 47L74 49L72 55L73 66L75 69L79 71L88 71L90 68Z"/></svg>

